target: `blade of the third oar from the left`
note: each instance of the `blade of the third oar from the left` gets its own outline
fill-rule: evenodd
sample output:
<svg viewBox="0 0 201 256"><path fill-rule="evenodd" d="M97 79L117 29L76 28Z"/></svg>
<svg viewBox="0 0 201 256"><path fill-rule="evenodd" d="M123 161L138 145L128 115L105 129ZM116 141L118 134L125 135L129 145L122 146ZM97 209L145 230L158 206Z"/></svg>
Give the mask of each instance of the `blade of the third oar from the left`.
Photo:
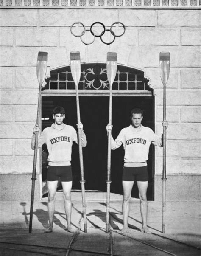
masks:
<svg viewBox="0 0 201 256"><path fill-rule="evenodd" d="M117 73L117 53L107 53L107 79L109 85L112 86Z"/></svg>

